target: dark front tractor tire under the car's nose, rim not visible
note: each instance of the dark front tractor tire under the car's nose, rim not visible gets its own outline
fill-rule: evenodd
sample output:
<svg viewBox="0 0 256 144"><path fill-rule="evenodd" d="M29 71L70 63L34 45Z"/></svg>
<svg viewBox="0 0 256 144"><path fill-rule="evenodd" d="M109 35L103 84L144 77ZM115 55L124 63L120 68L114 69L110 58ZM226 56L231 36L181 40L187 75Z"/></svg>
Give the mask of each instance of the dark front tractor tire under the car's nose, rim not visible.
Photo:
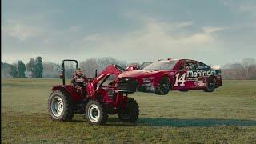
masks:
<svg viewBox="0 0 256 144"><path fill-rule="evenodd" d="M121 122L134 123L138 120L139 107L134 98L128 98L126 110L118 109L118 118Z"/></svg>

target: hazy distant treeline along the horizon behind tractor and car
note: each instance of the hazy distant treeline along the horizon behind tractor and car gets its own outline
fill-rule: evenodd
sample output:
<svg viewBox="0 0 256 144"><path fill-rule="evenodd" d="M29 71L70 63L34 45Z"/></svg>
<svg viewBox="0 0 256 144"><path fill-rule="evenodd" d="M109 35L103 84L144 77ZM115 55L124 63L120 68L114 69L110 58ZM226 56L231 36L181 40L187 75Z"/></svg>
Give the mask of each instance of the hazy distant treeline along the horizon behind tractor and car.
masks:
<svg viewBox="0 0 256 144"><path fill-rule="evenodd" d="M79 67L84 70L89 78L93 78L95 70L100 73L110 64L117 64L126 68L131 64L136 64L142 68L149 65L151 62L127 63L119 61L115 58L89 58L79 63ZM74 74L74 63L66 63L66 77L70 78ZM42 62L42 57L31 58L30 62L24 63L18 61L17 63L8 64L1 62L2 78L59 78L62 65L54 62ZM223 79L256 79L256 61L253 58L245 58L242 62L230 63L222 66Z"/></svg>

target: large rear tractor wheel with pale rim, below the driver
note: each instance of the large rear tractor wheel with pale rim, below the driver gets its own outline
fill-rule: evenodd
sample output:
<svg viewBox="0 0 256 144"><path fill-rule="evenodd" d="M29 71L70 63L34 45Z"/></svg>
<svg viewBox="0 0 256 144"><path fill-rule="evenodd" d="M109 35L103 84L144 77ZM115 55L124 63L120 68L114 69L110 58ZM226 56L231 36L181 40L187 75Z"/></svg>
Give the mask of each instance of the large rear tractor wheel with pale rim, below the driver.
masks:
<svg viewBox="0 0 256 144"><path fill-rule="evenodd" d="M62 90L54 90L48 100L48 111L54 121L71 121L74 117L74 102Z"/></svg>

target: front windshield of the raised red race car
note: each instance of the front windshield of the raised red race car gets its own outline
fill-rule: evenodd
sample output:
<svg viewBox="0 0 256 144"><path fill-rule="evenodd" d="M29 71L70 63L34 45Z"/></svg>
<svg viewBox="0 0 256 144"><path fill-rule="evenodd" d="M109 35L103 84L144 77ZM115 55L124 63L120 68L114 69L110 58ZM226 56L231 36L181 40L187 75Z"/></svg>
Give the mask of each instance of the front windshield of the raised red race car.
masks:
<svg viewBox="0 0 256 144"><path fill-rule="evenodd" d="M158 61L146 66L143 70L172 70L178 61Z"/></svg>

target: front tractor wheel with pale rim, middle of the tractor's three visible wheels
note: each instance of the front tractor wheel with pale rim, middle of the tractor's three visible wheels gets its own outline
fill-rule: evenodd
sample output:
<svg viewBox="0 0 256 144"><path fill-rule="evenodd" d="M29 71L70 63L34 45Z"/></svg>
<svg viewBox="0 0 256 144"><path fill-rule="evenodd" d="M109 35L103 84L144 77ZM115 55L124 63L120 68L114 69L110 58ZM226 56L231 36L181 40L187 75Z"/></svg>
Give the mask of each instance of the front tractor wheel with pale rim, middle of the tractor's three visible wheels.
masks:
<svg viewBox="0 0 256 144"><path fill-rule="evenodd" d="M85 117L87 122L89 122L92 125L105 124L108 118L106 106L102 102L90 100L86 104Z"/></svg>

